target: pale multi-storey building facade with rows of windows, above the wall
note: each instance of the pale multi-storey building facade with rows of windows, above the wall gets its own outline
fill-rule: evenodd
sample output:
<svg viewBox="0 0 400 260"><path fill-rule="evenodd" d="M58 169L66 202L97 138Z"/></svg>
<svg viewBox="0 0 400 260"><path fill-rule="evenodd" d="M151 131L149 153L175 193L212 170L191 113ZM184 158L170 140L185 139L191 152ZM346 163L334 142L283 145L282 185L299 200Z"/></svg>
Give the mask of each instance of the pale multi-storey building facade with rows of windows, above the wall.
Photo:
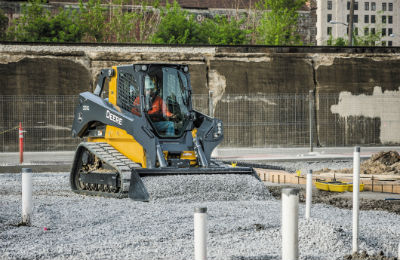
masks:
<svg viewBox="0 0 400 260"><path fill-rule="evenodd" d="M348 38L349 0L317 1L317 45L342 37ZM381 35L379 46L400 46L400 0L356 0L354 34Z"/></svg>

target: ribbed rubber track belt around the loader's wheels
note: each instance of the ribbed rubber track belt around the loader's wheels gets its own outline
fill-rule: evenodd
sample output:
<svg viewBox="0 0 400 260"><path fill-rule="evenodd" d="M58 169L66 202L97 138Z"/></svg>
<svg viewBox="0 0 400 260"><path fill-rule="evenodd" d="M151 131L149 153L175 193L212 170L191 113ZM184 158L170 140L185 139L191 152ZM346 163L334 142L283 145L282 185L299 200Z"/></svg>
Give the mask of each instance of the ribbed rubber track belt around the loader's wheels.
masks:
<svg viewBox="0 0 400 260"><path fill-rule="evenodd" d="M74 190L74 192L92 196L127 198L132 169L141 168L141 166L137 163L134 163L108 143L83 142L79 144L79 147L84 147L92 154L96 155L100 160L104 161L106 164L118 171L121 178L121 188L118 193L88 190ZM80 158L76 158L76 160L79 159ZM74 164L76 163L77 161L74 162Z"/></svg>

